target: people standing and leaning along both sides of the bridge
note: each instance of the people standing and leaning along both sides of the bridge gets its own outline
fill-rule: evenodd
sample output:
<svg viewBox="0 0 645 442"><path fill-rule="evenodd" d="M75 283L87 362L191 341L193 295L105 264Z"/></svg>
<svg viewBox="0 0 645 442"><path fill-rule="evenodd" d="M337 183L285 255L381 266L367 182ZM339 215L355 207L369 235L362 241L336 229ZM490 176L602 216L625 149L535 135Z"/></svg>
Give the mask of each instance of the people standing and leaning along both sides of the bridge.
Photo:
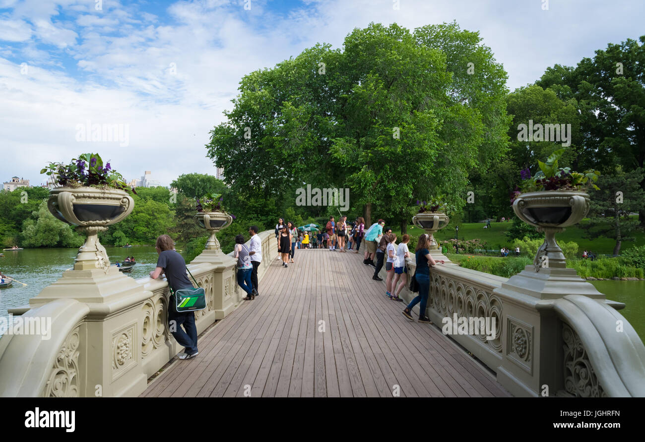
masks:
<svg viewBox="0 0 645 442"><path fill-rule="evenodd" d="M387 273L385 295L391 300L402 302L399 294L407 285L407 275L410 273L408 267L408 262L411 260L411 253L408 249L410 235L402 235L401 243L397 245L397 236L392 233L392 229L389 227L384 228L384 220L379 219L369 229L365 229L362 217L356 218L351 225L347 224L346 219L346 216L342 216L336 223L334 217L330 217L324 233L326 247L329 247L330 251L345 252L345 239L351 236L352 245L355 247L354 253L359 253L361 243L365 242L363 264L374 268L372 279L382 281L379 272L385 264ZM278 232L276 235L277 249L282 258L282 266L288 267L288 262L294 262L297 228L292 222L284 223L281 218L276 229ZM250 235L248 246L243 235L235 237L233 257L237 260L237 283L246 293L244 300L250 301L259 296L257 269L262 262L262 243L258 236L257 226L249 227L248 233ZM184 347L184 352L179 355L179 359L194 358L199 354L195 314L192 311L177 311L173 298L174 293L178 290L194 288L187 276L186 263L183 256L175 250L174 242L168 235L161 235L157 238L155 249L159 253L159 259L155 270L150 272L150 278L157 279L161 275L166 276L168 285L172 289L168 302L168 322L169 325L172 325L170 331L177 343ZM430 267L444 264L444 261L437 261L430 255L430 236L425 233L419 236L414 253L417 267L414 276L412 276L411 285L415 286L413 291L418 291L419 294L406 306L402 314L409 320L414 320L412 309L417 303L420 303L419 322L431 323L430 318L426 316L426 304L430 292ZM376 258L376 262L374 262L374 258Z"/></svg>

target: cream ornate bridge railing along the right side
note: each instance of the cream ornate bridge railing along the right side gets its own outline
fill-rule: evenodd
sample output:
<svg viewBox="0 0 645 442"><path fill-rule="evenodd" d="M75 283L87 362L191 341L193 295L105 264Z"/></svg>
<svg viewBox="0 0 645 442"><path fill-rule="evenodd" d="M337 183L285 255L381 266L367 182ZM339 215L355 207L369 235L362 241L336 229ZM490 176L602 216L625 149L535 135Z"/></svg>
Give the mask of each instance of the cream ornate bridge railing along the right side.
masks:
<svg viewBox="0 0 645 442"><path fill-rule="evenodd" d="M414 253L408 265L409 287ZM406 303L417 296L408 287L400 295ZM502 278L446 262L430 270L426 315L515 396L642 397L645 346L617 311L623 307L573 269L527 265ZM494 318L494 332L471 330L471 318L491 325Z"/></svg>

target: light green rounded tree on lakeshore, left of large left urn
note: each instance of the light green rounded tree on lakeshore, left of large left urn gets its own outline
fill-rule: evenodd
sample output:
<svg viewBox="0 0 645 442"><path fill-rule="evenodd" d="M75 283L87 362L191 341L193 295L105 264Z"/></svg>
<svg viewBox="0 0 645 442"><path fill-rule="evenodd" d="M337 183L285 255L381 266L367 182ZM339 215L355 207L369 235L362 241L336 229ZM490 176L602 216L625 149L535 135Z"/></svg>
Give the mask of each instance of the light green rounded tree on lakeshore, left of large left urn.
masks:
<svg viewBox="0 0 645 442"><path fill-rule="evenodd" d="M54 218L46 200L41 200L38 209L23 223L21 238L24 247L80 247L84 242L72 226Z"/></svg>

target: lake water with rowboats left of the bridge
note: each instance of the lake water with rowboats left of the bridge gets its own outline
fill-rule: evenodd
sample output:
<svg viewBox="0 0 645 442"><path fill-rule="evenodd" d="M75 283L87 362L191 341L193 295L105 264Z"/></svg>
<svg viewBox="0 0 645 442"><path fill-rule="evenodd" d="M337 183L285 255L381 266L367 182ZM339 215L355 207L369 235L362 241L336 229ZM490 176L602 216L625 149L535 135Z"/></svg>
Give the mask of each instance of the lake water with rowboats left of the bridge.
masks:
<svg viewBox="0 0 645 442"><path fill-rule="evenodd" d="M135 279L148 276L157 264L157 251L152 246L105 247L114 265L123 262L126 256L134 256L137 264L130 273L124 273ZM12 287L0 289L0 316L7 318L7 309L21 307L29 303L47 285L61 277L66 269L74 266L77 249L25 249L22 251L3 251L0 258L0 271L16 280L26 283L21 285L14 282Z"/></svg>

